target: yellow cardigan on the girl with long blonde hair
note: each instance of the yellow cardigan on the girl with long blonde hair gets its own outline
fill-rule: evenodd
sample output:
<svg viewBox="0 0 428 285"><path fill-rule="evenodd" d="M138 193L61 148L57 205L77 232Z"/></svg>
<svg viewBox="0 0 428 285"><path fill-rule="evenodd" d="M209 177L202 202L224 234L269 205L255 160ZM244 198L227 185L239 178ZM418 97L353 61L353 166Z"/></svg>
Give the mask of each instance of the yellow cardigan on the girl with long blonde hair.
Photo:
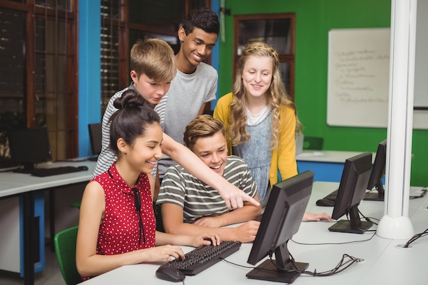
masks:
<svg viewBox="0 0 428 285"><path fill-rule="evenodd" d="M226 131L229 128L230 110L229 105L232 103L232 93L226 94L219 98L217 105L214 109L214 118L224 122ZM294 109L291 107L283 106L280 112L281 118L281 132L278 148L272 150L271 166L269 169L269 181L271 187L275 185L278 180L285 180L292 176L297 175L297 163L295 159L295 126L296 118ZM232 154L232 143L227 139L228 154ZM278 179L278 170L280 178Z"/></svg>

